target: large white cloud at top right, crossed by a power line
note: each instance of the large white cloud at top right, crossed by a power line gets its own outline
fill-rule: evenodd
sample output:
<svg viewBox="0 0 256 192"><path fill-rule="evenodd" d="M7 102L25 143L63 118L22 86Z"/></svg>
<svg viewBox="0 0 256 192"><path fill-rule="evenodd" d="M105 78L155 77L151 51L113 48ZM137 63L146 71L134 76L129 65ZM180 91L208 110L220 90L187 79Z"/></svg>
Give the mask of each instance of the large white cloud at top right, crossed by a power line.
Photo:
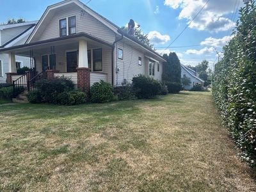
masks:
<svg viewBox="0 0 256 192"><path fill-rule="evenodd" d="M207 0L164 0L164 4L170 8L180 8L179 19L186 19L191 22L196 13L200 11ZM227 31L236 24L224 15L234 10L234 0L214 0L209 1L204 10L191 22L189 28L199 31ZM243 3L243 0L239 0Z"/></svg>

